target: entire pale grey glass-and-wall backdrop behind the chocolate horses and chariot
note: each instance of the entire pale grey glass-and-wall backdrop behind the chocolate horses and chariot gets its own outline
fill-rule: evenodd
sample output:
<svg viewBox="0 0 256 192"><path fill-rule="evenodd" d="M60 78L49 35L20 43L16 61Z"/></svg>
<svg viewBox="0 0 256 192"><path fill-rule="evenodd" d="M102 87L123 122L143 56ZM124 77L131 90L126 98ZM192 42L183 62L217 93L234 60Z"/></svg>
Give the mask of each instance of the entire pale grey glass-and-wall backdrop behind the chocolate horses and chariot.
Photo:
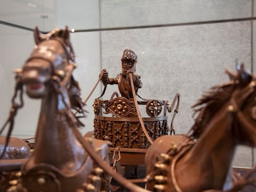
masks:
<svg viewBox="0 0 256 192"><path fill-rule="evenodd" d="M73 32L76 79L86 98L102 69L115 77L121 71L124 49L137 53L137 73L143 98L173 99L181 95L176 133L186 133L194 122L191 106L203 91L228 79L224 69L236 70L237 62L256 72L254 0L1 0L1 110L7 118L14 93L12 71L22 66L34 46L33 29L46 33L68 26ZM117 86L108 87L109 99ZM85 107L85 133L93 130L93 101L99 85ZM40 103L25 98L15 123L14 135L35 134ZM30 120L27 120L30 119ZM254 158L252 158L254 156ZM255 154L239 149L234 164L250 167Z"/></svg>

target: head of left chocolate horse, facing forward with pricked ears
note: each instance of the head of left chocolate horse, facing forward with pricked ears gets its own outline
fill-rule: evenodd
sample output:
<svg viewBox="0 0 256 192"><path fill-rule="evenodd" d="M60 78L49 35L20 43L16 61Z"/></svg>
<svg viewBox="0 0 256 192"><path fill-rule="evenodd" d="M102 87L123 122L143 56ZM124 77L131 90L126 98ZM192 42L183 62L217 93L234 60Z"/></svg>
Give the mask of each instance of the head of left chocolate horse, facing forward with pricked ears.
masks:
<svg viewBox="0 0 256 192"><path fill-rule="evenodd" d="M69 41L69 30L53 30L46 35L35 28L35 49L22 68L22 83L30 98L42 98L46 85L65 80L70 65L74 65L74 51Z"/></svg>

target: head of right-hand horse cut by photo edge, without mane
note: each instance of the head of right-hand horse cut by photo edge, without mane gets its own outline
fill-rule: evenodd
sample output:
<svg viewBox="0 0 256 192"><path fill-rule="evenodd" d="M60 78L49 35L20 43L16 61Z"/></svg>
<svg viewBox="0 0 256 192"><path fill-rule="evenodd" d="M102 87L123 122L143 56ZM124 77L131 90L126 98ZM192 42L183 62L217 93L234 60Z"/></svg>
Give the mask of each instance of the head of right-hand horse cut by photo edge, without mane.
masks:
<svg viewBox="0 0 256 192"><path fill-rule="evenodd" d="M228 110L233 113L234 138L237 144L256 146L256 79L239 67L237 78L233 79L239 88L231 97Z"/></svg>

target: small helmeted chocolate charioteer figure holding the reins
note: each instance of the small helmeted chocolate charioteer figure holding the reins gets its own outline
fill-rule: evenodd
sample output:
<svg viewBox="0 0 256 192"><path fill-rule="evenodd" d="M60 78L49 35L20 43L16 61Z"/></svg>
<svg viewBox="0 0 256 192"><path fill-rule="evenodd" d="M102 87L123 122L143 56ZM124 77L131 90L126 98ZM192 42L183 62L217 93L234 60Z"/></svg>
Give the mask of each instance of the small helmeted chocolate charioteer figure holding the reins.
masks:
<svg viewBox="0 0 256 192"><path fill-rule="evenodd" d="M106 69L103 69L103 75L101 81L103 85L113 85L117 84L121 96L127 99L133 99L132 86L130 85L129 73L132 73L132 80L134 83L135 92L142 88L142 81L139 75L135 75L135 68L137 63L137 54L130 49L124 50L122 54L122 73L117 75L116 78L109 78Z"/></svg>

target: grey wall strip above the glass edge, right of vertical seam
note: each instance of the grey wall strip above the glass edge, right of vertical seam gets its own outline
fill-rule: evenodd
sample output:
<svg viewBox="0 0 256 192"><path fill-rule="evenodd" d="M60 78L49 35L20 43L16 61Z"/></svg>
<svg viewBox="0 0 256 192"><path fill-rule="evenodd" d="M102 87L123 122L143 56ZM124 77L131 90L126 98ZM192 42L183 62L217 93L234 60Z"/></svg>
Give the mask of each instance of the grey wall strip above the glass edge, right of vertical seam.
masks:
<svg viewBox="0 0 256 192"><path fill-rule="evenodd" d="M252 0L100 0L101 27L237 19L251 16Z"/></svg>

